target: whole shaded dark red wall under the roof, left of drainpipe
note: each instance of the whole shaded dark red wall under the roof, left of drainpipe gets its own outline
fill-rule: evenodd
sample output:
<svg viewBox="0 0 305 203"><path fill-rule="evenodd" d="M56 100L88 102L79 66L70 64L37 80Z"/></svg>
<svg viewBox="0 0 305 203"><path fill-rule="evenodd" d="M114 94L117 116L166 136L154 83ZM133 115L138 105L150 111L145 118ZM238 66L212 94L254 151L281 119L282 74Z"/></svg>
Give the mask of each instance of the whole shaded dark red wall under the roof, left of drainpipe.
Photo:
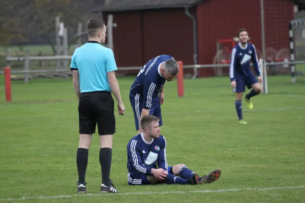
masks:
<svg viewBox="0 0 305 203"><path fill-rule="evenodd" d="M196 17L196 8L190 12ZM114 12L113 22L117 23L113 44L118 67L142 66L161 54L193 64L193 21L184 9Z"/></svg>

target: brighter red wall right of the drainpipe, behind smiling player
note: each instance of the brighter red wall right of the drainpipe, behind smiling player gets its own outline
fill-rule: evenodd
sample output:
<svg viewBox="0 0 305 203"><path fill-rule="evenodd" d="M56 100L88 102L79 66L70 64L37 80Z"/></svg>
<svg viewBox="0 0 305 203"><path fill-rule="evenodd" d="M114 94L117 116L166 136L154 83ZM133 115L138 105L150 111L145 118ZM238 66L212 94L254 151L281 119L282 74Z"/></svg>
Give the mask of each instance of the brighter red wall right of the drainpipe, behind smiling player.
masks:
<svg viewBox="0 0 305 203"><path fill-rule="evenodd" d="M246 7L246 9L245 9ZM293 20L293 2L264 0L266 48L289 47L289 22ZM258 51L261 51L260 1L210 0L197 7L199 63L212 63L219 39L236 37L239 28L246 28ZM230 44L225 44L231 49ZM200 70L200 76L213 76L212 69Z"/></svg>

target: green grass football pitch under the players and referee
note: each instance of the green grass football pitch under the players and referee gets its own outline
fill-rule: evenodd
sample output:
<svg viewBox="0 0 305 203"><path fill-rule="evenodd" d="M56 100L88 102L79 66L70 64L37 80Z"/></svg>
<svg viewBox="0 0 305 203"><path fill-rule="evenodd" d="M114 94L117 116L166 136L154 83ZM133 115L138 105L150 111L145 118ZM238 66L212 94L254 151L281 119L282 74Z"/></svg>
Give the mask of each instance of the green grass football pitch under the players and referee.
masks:
<svg viewBox="0 0 305 203"><path fill-rule="evenodd" d="M161 134L167 139L169 165L185 163L200 175L220 168L222 176L208 185L128 186L126 145L136 134L128 97L133 78L118 78L126 115L116 116L111 178L121 193L98 195L99 138L94 134L86 175L92 196L69 196L76 194L79 139L71 79L13 81L13 101L6 103L0 94L0 201L305 202L305 188L294 188L305 185L304 78L292 84L290 76L269 77L269 93L253 98L253 110L243 105L247 125L237 123L227 78L185 80L180 98L176 82L167 83ZM50 197L59 195L68 196ZM44 198L20 199L39 196Z"/></svg>

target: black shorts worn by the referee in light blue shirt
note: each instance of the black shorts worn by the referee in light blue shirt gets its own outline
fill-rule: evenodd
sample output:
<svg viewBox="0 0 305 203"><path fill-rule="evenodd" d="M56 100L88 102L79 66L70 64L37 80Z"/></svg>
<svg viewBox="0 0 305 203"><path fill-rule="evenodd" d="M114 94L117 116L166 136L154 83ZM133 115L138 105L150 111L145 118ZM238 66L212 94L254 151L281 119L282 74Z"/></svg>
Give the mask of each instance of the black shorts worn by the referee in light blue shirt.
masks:
<svg viewBox="0 0 305 203"><path fill-rule="evenodd" d="M99 135L115 133L114 100L111 92L81 93L78 103L79 133Z"/></svg>

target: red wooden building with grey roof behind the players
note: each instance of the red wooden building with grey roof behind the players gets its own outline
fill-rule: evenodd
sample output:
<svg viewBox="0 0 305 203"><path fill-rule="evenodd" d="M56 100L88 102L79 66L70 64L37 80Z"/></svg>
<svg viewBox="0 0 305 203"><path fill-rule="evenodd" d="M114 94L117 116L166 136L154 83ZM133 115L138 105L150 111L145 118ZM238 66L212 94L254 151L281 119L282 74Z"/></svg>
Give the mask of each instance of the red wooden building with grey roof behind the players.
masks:
<svg viewBox="0 0 305 203"><path fill-rule="evenodd" d="M293 7L291 0L264 0L266 47L289 48ZM259 0L112 0L94 12L102 12L106 23L105 17L113 14L118 67L142 66L160 54L194 64L197 53L198 64L210 64L217 41L236 37L241 27L248 29L252 43L261 50ZM213 69L199 71L199 76L212 75Z"/></svg>

